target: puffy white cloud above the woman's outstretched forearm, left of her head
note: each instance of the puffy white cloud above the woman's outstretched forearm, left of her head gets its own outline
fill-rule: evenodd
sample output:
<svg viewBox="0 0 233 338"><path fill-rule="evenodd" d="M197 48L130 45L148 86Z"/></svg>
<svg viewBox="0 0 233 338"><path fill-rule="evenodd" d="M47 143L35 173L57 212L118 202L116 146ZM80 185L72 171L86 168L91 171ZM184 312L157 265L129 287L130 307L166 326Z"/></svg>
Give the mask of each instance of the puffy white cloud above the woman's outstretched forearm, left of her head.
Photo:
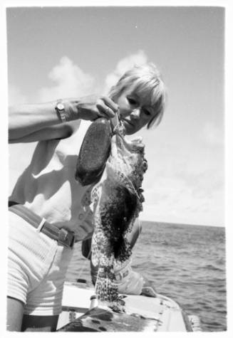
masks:
<svg viewBox="0 0 233 338"><path fill-rule="evenodd" d="M81 97L93 94L96 91L93 76L84 73L67 56L63 56L60 63L53 67L48 74L48 78L55 85L39 90L38 100L40 102L56 100L59 97Z"/></svg>

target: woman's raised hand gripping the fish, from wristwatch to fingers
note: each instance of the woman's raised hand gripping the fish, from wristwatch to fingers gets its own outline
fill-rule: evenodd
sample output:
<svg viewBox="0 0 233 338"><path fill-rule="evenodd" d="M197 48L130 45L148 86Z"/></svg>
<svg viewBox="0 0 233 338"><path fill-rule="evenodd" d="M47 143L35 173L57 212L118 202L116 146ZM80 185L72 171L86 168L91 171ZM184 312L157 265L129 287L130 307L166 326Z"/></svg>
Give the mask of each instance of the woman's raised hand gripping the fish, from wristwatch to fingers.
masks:
<svg viewBox="0 0 233 338"><path fill-rule="evenodd" d="M110 119L118 111L118 105L107 96L88 95L78 100L65 99L63 104L68 121L76 119L94 121L98 117Z"/></svg>

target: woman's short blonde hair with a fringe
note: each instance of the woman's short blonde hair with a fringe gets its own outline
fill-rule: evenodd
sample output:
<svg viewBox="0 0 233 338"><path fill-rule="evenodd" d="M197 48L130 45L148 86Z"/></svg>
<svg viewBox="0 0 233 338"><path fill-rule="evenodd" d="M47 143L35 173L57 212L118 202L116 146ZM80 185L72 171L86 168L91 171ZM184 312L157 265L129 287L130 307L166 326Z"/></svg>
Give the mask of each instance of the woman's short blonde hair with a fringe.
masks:
<svg viewBox="0 0 233 338"><path fill-rule="evenodd" d="M131 86L133 91L148 100L156 112L147 123L147 129L155 122L159 125L165 110L166 88L157 67L153 63L135 65L124 73L116 85L113 85L108 95L114 101L123 93L123 90Z"/></svg>

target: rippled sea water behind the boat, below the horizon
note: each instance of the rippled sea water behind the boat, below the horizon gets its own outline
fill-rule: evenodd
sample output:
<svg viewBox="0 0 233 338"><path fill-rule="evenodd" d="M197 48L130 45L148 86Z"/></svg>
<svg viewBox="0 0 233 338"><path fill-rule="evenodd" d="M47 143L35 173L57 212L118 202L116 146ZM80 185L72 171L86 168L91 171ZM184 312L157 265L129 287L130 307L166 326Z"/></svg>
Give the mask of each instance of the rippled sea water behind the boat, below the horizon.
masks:
<svg viewBox="0 0 233 338"><path fill-rule="evenodd" d="M133 248L135 271L155 283L158 293L178 302L187 315L197 315L202 330L227 329L225 231L214 226L142 222ZM90 282L90 265L74 248L66 280Z"/></svg>

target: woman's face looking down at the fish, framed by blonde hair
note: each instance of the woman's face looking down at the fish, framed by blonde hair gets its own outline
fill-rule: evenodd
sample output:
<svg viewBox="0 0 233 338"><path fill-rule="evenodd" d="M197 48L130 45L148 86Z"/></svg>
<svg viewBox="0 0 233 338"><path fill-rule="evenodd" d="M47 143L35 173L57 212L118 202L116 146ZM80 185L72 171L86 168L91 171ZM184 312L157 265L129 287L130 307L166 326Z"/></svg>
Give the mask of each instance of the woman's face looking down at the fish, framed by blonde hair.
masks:
<svg viewBox="0 0 233 338"><path fill-rule="evenodd" d="M123 122L127 135L138 132L156 115L147 100L130 88L125 89L115 103L119 106L120 120Z"/></svg>

